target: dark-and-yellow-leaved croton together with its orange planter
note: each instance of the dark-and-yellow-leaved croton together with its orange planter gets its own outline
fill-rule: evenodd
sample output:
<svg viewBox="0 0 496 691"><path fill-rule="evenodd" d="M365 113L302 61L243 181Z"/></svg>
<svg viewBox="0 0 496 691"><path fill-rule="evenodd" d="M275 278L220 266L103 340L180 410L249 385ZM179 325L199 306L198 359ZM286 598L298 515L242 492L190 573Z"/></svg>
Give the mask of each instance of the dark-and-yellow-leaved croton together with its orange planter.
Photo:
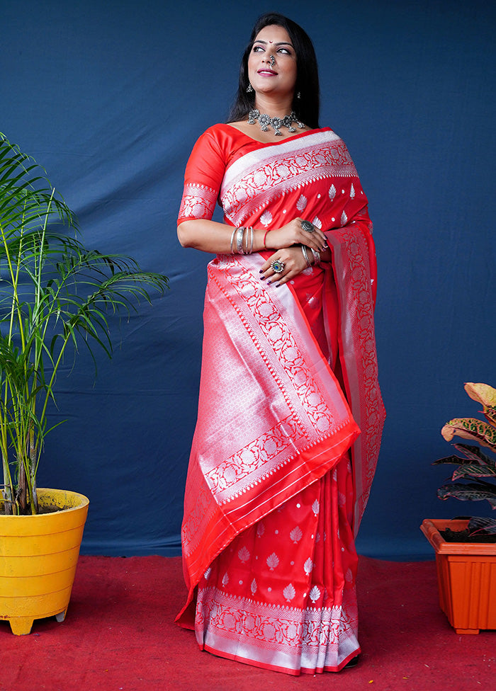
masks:
<svg viewBox="0 0 496 691"><path fill-rule="evenodd" d="M468 383L465 390L471 399L483 405L485 421L455 418L444 425L441 434L447 441L458 435L496 452L496 389L487 384ZM439 498L486 500L496 508L496 458L478 446L464 443L454 446L462 456L451 455L434 462L458 466L451 483L438 489ZM426 519L421 530L436 552L439 601L451 626L459 634L496 629L496 520Z"/></svg>

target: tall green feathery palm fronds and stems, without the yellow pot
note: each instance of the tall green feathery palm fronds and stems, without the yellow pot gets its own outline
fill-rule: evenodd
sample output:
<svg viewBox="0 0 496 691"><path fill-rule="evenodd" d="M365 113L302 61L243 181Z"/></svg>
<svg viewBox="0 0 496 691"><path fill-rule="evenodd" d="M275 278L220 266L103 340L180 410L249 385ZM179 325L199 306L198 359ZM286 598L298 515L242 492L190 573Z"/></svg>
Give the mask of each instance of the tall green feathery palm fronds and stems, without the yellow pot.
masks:
<svg viewBox="0 0 496 691"><path fill-rule="evenodd" d="M62 229L60 226L64 225ZM62 232L62 230L64 232ZM0 134L0 450L4 513L38 513L36 472L57 372L84 343L112 355L107 314L136 309L167 277L88 250L45 171ZM95 360L96 362L96 360ZM2 501L3 499L3 501Z"/></svg>

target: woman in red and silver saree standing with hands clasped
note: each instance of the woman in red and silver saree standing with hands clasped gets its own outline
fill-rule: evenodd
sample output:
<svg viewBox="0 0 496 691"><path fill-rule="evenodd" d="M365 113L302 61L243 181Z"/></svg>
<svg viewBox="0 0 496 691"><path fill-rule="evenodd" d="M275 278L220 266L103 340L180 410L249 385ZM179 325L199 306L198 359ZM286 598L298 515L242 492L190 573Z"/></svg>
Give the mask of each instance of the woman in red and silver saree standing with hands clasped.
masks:
<svg viewBox="0 0 496 691"><path fill-rule="evenodd" d="M367 200L318 110L308 35L262 16L229 122L188 161L178 227L217 255L178 620L202 649L289 674L360 651L354 533L383 425Z"/></svg>

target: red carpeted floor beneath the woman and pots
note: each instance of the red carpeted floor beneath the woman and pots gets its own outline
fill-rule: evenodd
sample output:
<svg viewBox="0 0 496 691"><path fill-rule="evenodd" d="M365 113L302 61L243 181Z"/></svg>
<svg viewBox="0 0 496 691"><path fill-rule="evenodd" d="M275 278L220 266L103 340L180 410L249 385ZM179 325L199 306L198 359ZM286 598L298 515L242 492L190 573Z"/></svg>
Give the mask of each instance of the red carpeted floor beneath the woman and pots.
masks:
<svg viewBox="0 0 496 691"><path fill-rule="evenodd" d="M81 556L67 619L30 636L0 622L0 691L496 691L496 633L459 636L434 561L361 557L359 666L290 677L202 653L174 615L179 558Z"/></svg>

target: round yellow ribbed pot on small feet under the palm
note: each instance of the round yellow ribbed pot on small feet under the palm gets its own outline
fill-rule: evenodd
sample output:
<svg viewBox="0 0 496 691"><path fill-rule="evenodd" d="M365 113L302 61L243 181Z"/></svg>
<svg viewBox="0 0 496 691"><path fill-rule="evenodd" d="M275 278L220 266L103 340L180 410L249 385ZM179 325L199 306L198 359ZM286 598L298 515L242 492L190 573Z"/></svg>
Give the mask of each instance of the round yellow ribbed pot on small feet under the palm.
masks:
<svg viewBox="0 0 496 691"><path fill-rule="evenodd" d="M35 516L0 515L0 619L13 634L29 634L34 619L63 622L76 573L89 500L82 494L38 489Z"/></svg>

